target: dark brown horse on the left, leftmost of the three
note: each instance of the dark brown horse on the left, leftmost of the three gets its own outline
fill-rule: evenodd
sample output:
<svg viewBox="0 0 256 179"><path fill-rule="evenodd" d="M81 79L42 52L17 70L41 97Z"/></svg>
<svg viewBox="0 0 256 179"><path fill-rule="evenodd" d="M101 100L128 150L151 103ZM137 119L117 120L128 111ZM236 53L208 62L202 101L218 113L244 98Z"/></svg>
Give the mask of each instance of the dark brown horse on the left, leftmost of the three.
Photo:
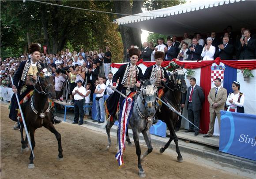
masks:
<svg viewBox="0 0 256 179"><path fill-rule="evenodd" d="M37 128L41 128L44 126L50 132L52 132L58 141L58 151L59 154L57 158L62 161L62 146L61 146L61 136L60 133L56 131L52 122L52 111L51 106L49 104L49 99L55 99L56 92L54 89L54 81L53 77L50 76L50 73L46 70L43 72L38 72L38 77L34 81L34 92L31 98L25 102L21 107L23 110L24 119L26 122L27 130L30 133L31 139L31 152L30 152L30 163L28 164L28 168L34 168L34 157L32 154L32 150L35 147L35 139L34 133ZM20 133L21 133L21 151L28 151L27 145L27 137L24 140L23 138L23 129L24 125L21 125Z"/></svg>

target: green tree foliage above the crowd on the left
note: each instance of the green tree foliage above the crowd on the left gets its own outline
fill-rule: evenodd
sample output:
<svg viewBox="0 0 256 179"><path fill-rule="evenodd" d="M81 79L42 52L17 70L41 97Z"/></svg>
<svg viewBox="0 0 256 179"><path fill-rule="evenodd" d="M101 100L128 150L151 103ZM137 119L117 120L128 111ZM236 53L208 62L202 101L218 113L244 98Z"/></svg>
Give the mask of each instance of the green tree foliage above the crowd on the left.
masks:
<svg viewBox="0 0 256 179"><path fill-rule="evenodd" d="M113 9L111 1L45 2L99 11ZM23 53L31 42L47 45L49 53L57 53L66 47L76 51L79 51L80 47L85 47L86 50L98 50L98 47L101 47L105 50L109 45L113 61L122 59L122 40L117 30L118 26L112 23L113 15L31 1L0 3L2 57L3 52L10 50L15 51L14 54ZM23 5L25 8L21 8Z"/></svg>

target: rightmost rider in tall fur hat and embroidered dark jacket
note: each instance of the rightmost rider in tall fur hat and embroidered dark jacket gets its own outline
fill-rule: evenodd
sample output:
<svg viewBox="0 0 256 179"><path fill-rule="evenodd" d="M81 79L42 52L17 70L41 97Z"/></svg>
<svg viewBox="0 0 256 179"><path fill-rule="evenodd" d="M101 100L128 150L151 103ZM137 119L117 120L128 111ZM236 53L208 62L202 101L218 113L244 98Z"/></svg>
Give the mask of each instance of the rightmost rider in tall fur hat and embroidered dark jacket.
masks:
<svg viewBox="0 0 256 179"><path fill-rule="evenodd" d="M159 89L162 89L162 82L169 82L169 75L166 72L166 69L162 68L161 64L163 62L165 53L162 51L156 51L154 54L155 65L147 67L143 80L155 81L155 86Z"/></svg>

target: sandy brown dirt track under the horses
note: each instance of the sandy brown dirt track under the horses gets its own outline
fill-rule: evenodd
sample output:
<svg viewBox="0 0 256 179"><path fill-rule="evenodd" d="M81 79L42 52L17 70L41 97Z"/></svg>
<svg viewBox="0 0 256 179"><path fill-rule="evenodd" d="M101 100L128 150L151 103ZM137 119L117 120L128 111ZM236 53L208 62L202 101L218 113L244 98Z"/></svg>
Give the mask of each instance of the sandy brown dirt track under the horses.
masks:
<svg viewBox="0 0 256 179"><path fill-rule="evenodd" d="M45 128L35 132L35 168L28 169L29 154L21 153L20 133L12 129L8 106L1 104L1 179L136 179L139 178L135 146L127 146L124 167L118 169L115 160L116 138L107 152L106 134L82 126L61 123L64 161L57 161L57 141ZM142 153L146 148L142 147ZM147 179L238 179L228 172L202 166L192 160L177 162L177 155L159 154L157 149L142 162Z"/></svg>

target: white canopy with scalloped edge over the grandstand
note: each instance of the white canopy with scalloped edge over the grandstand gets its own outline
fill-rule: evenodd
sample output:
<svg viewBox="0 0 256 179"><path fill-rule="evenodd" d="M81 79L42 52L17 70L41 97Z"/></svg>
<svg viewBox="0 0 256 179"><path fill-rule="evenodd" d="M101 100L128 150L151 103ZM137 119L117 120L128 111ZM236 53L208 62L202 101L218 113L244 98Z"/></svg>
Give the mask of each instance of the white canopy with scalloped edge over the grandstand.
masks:
<svg viewBox="0 0 256 179"><path fill-rule="evenodd" d="M228 25L256 29L256 0L200 0L116 19L118 25L165 35L222 32Z"/></svg>

